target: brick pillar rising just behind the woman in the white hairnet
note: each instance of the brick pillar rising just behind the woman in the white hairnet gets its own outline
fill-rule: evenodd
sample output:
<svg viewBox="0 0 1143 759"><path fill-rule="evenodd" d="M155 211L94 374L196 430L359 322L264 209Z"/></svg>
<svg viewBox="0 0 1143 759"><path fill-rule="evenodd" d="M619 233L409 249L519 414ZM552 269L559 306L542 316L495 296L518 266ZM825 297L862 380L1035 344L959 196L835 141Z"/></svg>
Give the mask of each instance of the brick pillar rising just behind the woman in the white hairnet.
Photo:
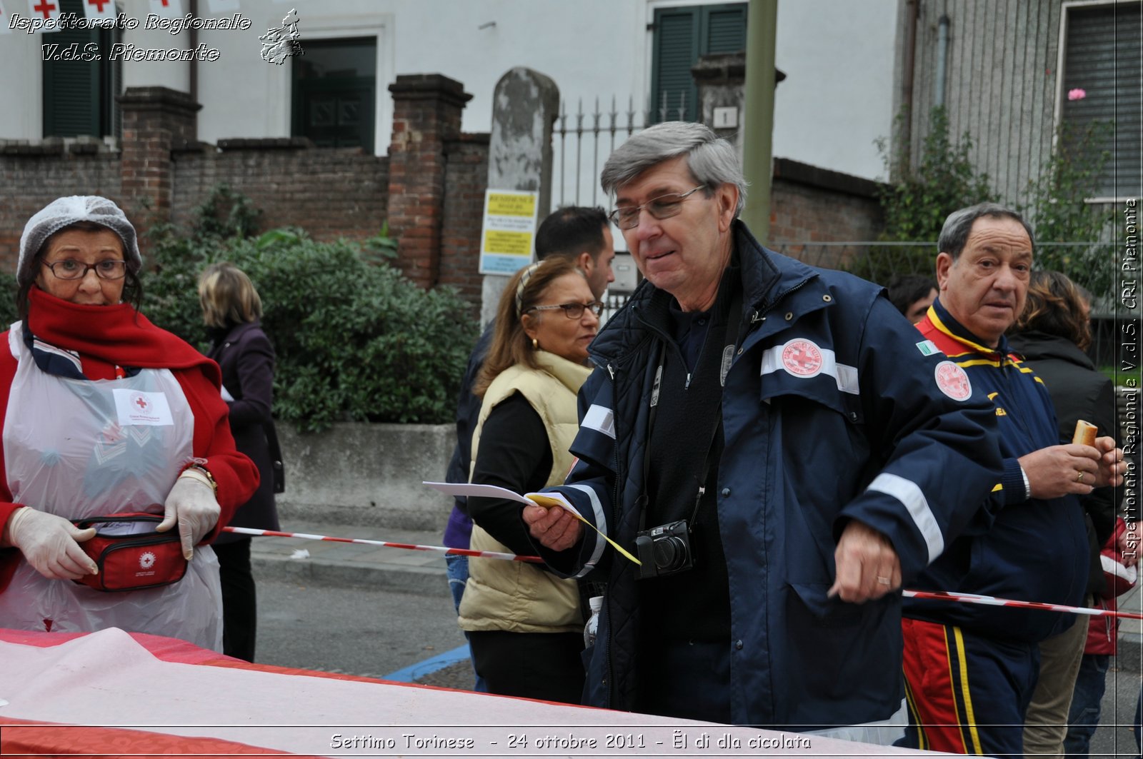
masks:
<svg viewBox="0 0 1143 759"><path fill-rule="evenodd" d="M195 142L202 107L167 87L128 87L118 97L123 117L122 200L136 225L170 218L174 163L170 151Z"/></svg>

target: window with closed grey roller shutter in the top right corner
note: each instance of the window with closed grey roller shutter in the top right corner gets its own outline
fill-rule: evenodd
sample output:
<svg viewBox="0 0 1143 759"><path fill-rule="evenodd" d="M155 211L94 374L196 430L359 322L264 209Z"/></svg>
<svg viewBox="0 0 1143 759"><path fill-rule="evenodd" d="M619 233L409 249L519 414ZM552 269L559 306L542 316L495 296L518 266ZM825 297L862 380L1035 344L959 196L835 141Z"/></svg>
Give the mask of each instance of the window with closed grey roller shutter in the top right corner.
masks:
<svg viewBox="0 0 1143 759"><path fill-rule="evenodd" d="M1093 122L1098 139L1085 146L1090 163L1110 155L1098 176L1100 198L1143 194L1143 27L1141 2L1064 6L1060 119L1079 133Z"/></svg>

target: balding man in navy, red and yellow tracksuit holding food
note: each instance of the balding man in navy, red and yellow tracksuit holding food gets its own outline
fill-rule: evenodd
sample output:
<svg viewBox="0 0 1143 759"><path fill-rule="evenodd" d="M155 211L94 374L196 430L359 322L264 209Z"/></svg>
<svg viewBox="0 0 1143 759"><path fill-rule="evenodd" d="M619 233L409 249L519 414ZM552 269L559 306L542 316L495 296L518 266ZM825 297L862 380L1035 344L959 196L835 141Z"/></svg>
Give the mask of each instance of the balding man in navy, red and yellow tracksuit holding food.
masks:
<svg viewBox="0 0 1143 759"><path fill-rule="evenodd" d="M1032 270L1032 232L1020 215L996 203L958 210L938 248L940 296L917 325L926 338L920 346L946 357L936 368L942 388L992 400L1004 479L976 529L953 541L914 585L1081 605L1088 549L1076 496L1119 485L1122 452L1110 437L1095 447L1057 445L1047 389L1008 353L1004 333L1024 307ZM920 599L906 599L903 616L906 744L1021 756L1037 644L1073 617Z"/></svg>

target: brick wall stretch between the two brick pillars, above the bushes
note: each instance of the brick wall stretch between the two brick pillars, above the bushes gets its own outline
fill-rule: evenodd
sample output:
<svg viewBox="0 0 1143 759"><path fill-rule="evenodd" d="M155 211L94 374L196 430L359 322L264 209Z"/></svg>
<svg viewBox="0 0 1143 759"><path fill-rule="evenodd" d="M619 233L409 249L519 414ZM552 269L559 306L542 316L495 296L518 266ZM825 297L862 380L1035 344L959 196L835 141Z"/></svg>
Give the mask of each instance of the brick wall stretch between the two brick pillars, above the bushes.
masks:
<svg viewBox="0 0 1143 759"><path fill-rule="evenodd" d="M313 147L302 138L223 139L222 151L176 151L171 219L189 224L219 184L262 210L258 226L301 226L317 240L362 240L381 232L389 159L358 147Z"/></svg>

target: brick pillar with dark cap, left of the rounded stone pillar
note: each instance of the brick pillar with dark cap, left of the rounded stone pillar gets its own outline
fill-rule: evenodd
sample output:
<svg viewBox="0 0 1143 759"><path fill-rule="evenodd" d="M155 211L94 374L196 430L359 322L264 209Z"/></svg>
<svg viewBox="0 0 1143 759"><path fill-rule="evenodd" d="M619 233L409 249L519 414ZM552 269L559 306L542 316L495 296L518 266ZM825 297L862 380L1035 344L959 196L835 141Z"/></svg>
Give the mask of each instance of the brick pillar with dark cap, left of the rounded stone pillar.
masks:
<svg viewBox="0 0 1143 759"><path fill-rule="evenodd" d="M400 75L389 91L393 94L389 233L398 242L398 267L430 288L440 273L445 142L461 134L461 113L472 95L440 74Z"/></svg>

